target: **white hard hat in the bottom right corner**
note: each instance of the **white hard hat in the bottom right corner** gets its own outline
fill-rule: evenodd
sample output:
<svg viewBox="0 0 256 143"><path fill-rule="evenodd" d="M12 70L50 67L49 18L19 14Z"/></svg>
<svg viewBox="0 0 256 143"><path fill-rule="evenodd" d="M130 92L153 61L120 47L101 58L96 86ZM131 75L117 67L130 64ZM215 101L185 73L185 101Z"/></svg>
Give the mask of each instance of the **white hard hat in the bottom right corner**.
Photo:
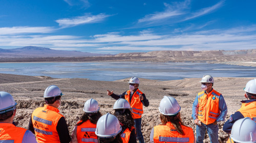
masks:
<svg viewBox="0 0 256 143"><path fill-rule="evenodd" d="M237 120L230 137L236 142L256 142L256 123L249 117Z"/></svg>

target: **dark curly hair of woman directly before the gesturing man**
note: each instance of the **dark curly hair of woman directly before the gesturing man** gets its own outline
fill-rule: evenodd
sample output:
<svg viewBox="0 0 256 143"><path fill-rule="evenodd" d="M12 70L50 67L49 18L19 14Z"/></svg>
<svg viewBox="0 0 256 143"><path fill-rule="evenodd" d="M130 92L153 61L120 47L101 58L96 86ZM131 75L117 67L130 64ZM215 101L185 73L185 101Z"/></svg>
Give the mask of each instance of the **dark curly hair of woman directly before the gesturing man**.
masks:
<svg viewBox="0 0 256 143"><path fill-rule="evenodd" d="M132 131L132 127L134 126L134 119L133 115L130 109L125 109L124 113L122 115L116 115L116 112L114 112L114 115L118 119L118 121L123 124L122 129L125 130L126 128L129 128L130 131Z"/></svg>

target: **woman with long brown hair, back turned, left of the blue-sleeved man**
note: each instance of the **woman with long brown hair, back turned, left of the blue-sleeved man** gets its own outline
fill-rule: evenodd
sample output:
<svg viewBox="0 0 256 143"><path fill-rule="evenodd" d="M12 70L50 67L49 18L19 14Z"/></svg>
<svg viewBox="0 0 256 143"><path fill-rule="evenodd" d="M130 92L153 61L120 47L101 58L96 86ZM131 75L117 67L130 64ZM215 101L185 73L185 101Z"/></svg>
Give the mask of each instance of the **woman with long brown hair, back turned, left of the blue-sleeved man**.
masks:
<svg viewBox="0 0 256 143"><path fill-rule="evenodd" d="M162 124L155 126L150 142L196 142L193 129L185 126L180 118L180 105L175 98L164 96L159 105Z"/></svg>

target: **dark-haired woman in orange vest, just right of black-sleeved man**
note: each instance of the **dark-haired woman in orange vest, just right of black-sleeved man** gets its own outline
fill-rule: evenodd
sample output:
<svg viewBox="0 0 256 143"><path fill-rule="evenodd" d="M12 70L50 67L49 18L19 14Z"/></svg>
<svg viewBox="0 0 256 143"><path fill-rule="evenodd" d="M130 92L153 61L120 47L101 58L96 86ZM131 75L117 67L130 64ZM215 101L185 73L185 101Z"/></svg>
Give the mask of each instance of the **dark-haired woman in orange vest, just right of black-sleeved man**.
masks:
<svg viewBox="0 0 256 143"><path fill-rule="evenodd" d="M95 134L97 121L101 117L98 102L94 99L87 100L84 103L83 111L81 120L75 125L71 134L71 143L98 142Z"/></svg>

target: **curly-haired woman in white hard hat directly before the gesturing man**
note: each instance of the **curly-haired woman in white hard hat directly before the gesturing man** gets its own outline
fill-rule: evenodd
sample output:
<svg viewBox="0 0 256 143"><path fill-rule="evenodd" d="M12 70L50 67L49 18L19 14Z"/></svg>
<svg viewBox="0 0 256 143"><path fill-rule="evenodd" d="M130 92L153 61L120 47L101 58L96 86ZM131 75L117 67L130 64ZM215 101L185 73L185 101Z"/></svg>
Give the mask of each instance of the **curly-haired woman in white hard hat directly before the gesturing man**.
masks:
<svg viewBox="0 0 256 143"><path fill-rule="evenodd" d="M113 109L115 110L114 115L117 117L122 127L121 138L123 142L137 142L134 128L134 120L129 102L125 99L119 98L115 102Z"/></svg>

